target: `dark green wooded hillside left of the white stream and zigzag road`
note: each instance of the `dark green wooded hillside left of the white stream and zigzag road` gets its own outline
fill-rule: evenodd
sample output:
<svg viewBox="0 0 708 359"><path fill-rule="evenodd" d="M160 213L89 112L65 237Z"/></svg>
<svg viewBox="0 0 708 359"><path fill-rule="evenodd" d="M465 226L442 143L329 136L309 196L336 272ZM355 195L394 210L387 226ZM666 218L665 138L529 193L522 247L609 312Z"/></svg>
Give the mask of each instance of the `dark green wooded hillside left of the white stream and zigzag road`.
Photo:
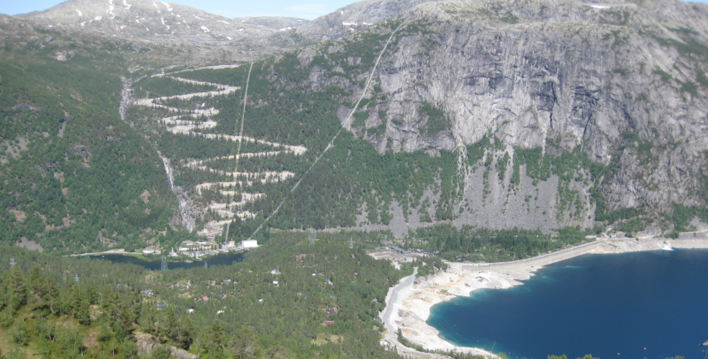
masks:
<svg viewBox="0 0 708 359"><path fill-rule="evenodd" d="M0 241L79 252L157 238L176 201L118 115L121 44L18 35L0 48Z"/></svg>

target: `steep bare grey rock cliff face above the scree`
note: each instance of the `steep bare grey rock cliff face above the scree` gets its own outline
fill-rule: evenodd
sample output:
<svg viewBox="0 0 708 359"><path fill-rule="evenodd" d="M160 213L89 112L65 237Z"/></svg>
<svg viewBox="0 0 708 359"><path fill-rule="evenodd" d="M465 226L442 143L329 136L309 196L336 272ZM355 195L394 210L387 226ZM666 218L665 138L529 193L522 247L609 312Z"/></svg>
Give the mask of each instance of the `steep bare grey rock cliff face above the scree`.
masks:
<svg viewBox="0 0 708 359"><path fill-rule="evenodd" d="M614 166L600 181L610 209L705 204L708 6L448 1L420 4L400 20L375 75L385 96L371 95L378 102L367 108L366 130L385 126L385 136L354 129L380 152L454 150L488 134L506 146L495 158L580 147ZM313 70L315 82L328 78L322 71ZM426 104L442 110L445 131L430 136ZM589 187L571 182L587 200ZM508 202L508 183L500 180L497 201ZM561 224L591 224L594 209L584 208Z"/></svg>

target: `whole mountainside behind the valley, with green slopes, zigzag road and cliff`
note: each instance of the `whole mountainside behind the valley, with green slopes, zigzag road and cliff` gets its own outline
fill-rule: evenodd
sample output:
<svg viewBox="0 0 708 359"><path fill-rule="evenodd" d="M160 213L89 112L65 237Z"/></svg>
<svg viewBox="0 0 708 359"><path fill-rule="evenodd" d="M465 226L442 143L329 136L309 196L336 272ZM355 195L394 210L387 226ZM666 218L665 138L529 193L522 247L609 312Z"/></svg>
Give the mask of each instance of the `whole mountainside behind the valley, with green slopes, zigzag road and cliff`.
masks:
<svg viewBox="0 0 708 359"><path fill-rule="evenodd" d="M708 221L705 7L404 5L223 66L188 44L49 28L68 8L4 21L2 238L77 252L172 244L180 226L390 229L446 251L418 229L571 244Z"/></svg>

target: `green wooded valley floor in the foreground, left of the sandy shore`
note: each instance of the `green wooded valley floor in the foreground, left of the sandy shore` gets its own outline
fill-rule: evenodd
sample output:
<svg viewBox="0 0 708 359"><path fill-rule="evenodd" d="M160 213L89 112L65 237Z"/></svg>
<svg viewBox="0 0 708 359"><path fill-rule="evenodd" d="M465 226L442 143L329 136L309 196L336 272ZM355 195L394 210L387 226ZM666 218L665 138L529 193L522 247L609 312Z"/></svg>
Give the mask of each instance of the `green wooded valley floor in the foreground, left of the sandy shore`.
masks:
<svg viewBox="0 0 708 359"><path fill-rule="evenodd" d="M3 247L0 262L18 264L0 271L0 348L137 358L138 333L148 333L158 346L209 359L398 357L372 328L381 328L388 287L405 273L361 248L380 244L383 234L318 234L315 246L305 237L277 235L231 266L167 272ZM154 294L141 296L145 289ZM196 300L203 296L209 301Z"/></svg>

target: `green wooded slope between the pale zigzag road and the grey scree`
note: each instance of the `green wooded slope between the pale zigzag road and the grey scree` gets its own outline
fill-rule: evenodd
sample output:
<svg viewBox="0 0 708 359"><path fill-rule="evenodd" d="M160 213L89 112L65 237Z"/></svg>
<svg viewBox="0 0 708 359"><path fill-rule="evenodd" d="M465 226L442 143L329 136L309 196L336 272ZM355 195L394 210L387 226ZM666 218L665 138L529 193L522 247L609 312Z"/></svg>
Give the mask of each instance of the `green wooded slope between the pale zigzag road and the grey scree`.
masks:
<svg viewBox="0 0 708 359"><path fill-rule="evenodd" d="M328 54L331 61L335 56ZM362 58L362 63L368 58ZM327 155L322 157L312 172L305 176L298 190L290 193L293 183L312 165L314 159L324 150L330 139L339 130L336 111L345 97L350 93L337 87L328 87L315 91L303 91L293 86L292 81L302 78L299 60L296 57L284 55L277 63L275 60L256 62L253 66L249 85L249 102L264 101L268 106L249 106L247 109L244 135L267 141L304 145L308 151L302 156L279 155L268 157L253 157L241 160L240 170L248 171L291 171L295 173L293 180L280 183L255 183L246 188L248 192L264 192L267 196L255 203L248 204L245 209L260 213L255 220L236 223L231 226L236 238L248 236L246 230L239 229L244 225L255 228L260 221L273 212L284 196L289 196L279 213L269 219L268 226L277 229L292 228L324 228L336 226L354 226L356 213L366 203L368 219L371 223L386 224L392 218L391 203L396 200L403 206L407 215L411 206L419 206L425 188L433 186L436 181L442 181L443 200L437 203L437 215L441 218L452 218L453 204L459 195L461 181L456 178L457 158L455 154L444 152L441 157L430 157L424 152L378 154L374 148L362 139L354 138L350 133L343 132L338 137ZM340 59L337 61L346 61ZM373 61L373 57L371 58ZM340 64L339 62L336 62ZM370 63L362 64L361 71L370 70ZM355 65L352 65L355 66ZM356 65L359 66L359 65ZM277 79L271 69L276 69ZM212 70L182 72L180 77L198 81L216 81L210 75ZM216 70L214 70L216 71ZM243 79L247 67L218 70L219 76L225 79ZM309 70L308 70L309 71ZM359 70L352 70L356 72ZM307 71L305 71L307 73ZM274 81L286 81L287 85L276 85ZM216 81L218 82L218 81ZM232 85L238 83L231 82ZM242 85L242 84L241 84ZM194 101L172 101L171 105L178 108L192 108L200 104L202 99ZM372 102L375 99L371 100ZM199 103L198 103L199 102ZM237 122L242 111L242 104L235 95L221 96L207 100L206 106L220 110L215 116L218 126L206 130L210 133L237 133ZM366 104L366 101L362 104ZM360 108L361 105L360 104ZM385 113L379 117L385 118ZM429 117L429 123L437 123L432 130L441 131L444 128L443 112L432 105L423 106L423 112ZM131 113L131 119L137 114ZM369 116L368 111L357 111L354 114L354 127L363 127L363 122ZM137 121L137 119L134 119ZM436 122L437 121L437 122ZM386 123L366 130L367 137L383 135ZM174 135L162 133L156 140L158 149L168 158L210 158L228 156L235 153L235 143L229 141L207 140L193 135ZM248 144L243 151L273 151L275 148L259 144ZM234 162L229 160L214 160L209 167L217 170L233 170ZM228 181L228 176L217 173L181 168L176 178L177 185L189 188L202 182ZM201 201L220 198L213 190L204 191ZM248 224L253 222L252 224Z"/></svg>

